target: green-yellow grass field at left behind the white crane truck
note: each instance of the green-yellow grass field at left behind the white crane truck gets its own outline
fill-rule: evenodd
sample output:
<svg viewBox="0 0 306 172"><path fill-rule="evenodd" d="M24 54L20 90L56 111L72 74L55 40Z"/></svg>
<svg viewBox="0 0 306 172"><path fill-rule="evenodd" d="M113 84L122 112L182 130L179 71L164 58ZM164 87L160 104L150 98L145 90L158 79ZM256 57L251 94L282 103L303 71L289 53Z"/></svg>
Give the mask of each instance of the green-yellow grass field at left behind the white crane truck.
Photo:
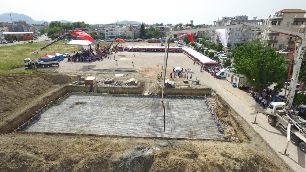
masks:
<svg viewBox="0 0 306 172"><path fill-rule="evenodd" d="M48 42L47 42L48 43ZM0 47L0 71L8 70L15 66L23 65L24 58L32 59L32 52L38 50L47 44L42 43L26 43L17 44L12 46L1 46ZM53 52L57 53L71 53L77 51L77 46L67 46L66 42L56 42L53 45L43 49L39 54L35 54L35 58L39 58L44 54L51 54Z"/></svg>

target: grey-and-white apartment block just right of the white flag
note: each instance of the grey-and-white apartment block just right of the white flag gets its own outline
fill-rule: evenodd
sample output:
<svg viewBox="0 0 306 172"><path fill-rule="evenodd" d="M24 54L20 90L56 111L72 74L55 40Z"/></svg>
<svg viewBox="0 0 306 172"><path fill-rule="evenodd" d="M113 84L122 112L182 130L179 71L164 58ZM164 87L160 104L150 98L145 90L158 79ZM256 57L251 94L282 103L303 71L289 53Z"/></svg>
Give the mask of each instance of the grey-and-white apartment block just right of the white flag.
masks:
<svg viewBox="0 0 306 172"><path fill-rule="evenodd" d="M235 16L233 18L230 17L227 20L225 25L237 24L240 22L257 24L256 17L253 17L253 20L248 20L248 16ZM252 27L249 27L252 28ZM229 48L235 47L236 44L246 43L247 41L253 41L256 36L256 31L245 30L241 31L240 28L231 28L226 29L226 42L231 46Z"/></svg>

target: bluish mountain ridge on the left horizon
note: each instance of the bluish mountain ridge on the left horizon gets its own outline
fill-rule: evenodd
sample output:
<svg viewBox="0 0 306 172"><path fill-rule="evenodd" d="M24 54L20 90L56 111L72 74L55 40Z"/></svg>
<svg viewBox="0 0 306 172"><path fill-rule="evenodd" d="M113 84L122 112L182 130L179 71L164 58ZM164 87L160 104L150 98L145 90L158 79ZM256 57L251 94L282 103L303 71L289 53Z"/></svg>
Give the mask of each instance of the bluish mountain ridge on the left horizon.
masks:
<svg viewBox="0 0 306 172"><path fill-rule="evenodd" d="M27 15L18 14L18 13L3 13L3 14L0 14L0 22L3 21L3 22L11 23L12 21L11 21L11 17L9 16L9 14L12 14L12 20L13 21L21 20L21 21L26 21L28 24L42 24L42 23L46 22L44 20L35 21ZM68 22L73 23L72 21L66 21L66 20L60 20L60 22L62 22L62 23L68 23ZM48 21L48 23L50 23L50 22Z"/></svg>

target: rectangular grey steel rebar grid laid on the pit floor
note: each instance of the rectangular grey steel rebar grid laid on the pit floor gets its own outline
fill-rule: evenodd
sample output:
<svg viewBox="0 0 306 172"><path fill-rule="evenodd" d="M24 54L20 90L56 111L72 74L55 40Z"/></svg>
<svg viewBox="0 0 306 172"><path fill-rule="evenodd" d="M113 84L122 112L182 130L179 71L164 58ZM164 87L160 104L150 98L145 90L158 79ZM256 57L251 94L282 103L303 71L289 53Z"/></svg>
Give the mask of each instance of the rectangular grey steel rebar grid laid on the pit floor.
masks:
<svg viewBox="0 0 306 172"><path fill-rule="evenodd" d="M20 133L225 140L203 96L70 93L19 127ZM15 130L16 131L16 130Z"/></svg>

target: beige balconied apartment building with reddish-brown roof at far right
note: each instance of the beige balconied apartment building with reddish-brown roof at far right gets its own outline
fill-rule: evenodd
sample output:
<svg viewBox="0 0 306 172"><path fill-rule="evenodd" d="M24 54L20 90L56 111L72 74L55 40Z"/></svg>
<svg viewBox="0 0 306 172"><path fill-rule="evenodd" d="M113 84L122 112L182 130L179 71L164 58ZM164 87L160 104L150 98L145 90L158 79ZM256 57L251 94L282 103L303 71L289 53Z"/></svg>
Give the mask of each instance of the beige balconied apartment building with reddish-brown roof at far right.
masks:
<svg viewBox="0 0 306 172"><path fill-rule="evenodd" d="M282 9L275 12L273 16L268 16L267 19L259 19L258 24L298 32L305 26L305 13L306 11L302 9ZM305 29L303 32L305 33ZM256 38L268 41L271 43L271 47L276 50L285 49L285 45L289 46L286 48L288 52L292 51L293 48L294 37L292 36L264 30L262 32L257 31Z"/></svg>

